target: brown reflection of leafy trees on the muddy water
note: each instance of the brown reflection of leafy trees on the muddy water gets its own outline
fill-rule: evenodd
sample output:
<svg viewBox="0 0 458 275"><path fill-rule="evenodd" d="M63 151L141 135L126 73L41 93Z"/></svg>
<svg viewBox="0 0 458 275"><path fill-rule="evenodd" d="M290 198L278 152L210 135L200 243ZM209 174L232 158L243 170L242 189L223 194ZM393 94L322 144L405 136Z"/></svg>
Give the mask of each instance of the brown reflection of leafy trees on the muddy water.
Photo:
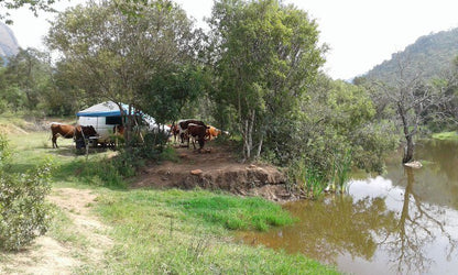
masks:
<svg viewBox="0 0 458 275"><path fill-rule="evenodd" d="M286 207L298 216L298 223L276 233L247 233L247 242L304 253L320 262L336 264L339 254L370 260L375 250L374 234L396 227L395 212L382 198L364 198L353 204L350 196L324 201L301 201Z"/></svg>

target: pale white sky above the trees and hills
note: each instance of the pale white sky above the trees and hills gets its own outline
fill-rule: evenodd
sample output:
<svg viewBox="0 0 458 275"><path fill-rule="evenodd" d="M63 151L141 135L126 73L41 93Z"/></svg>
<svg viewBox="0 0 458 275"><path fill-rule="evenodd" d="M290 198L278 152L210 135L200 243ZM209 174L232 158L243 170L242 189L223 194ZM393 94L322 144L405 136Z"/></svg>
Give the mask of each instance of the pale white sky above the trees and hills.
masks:
<svg viewBox="0 0 458 275"><path fill-rule="evenodd" d="M57 9L84 2L63 0ZM198 21L209 16L212 0L175 0ZM457 0L284 0L318 23L320 43L330 46L325 72L335 79L364 74L416 38L458 28ZM21 47L44 50L52 14L34 18L26 9L12 12L11 26ZM200 23L203 24L203 23Z"/></svg>

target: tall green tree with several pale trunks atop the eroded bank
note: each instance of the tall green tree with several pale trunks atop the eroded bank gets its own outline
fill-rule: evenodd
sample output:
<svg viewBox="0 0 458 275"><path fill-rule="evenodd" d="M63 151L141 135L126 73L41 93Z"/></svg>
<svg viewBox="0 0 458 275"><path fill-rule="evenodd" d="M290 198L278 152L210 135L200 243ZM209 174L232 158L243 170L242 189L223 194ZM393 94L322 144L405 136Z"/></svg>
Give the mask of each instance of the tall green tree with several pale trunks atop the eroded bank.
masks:
<svg viewBox="0 0 458 275"><path fill-rule="evenodd" d="M264 141L277 138L273 120L294 118L324 63L317 25L275 0L216 1L209 24L208 59L218 85L212 98L236 110L244 158L259 157Z"/></svg>

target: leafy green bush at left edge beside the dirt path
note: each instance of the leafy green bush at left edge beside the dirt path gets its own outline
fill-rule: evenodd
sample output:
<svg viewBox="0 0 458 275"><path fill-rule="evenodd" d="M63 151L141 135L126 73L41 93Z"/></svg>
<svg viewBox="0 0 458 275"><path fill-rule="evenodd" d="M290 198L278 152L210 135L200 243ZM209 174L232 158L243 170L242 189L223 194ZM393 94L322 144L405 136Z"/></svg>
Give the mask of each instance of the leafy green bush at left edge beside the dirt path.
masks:
<svg viewBox="0 0 458 275"><path fill-rule="evenodd" d="M45 196L51 189L48 163L25 174L8 173L8 142L0 134L0 249L11 251L29 245L44 234L51 208Z"/></svg>

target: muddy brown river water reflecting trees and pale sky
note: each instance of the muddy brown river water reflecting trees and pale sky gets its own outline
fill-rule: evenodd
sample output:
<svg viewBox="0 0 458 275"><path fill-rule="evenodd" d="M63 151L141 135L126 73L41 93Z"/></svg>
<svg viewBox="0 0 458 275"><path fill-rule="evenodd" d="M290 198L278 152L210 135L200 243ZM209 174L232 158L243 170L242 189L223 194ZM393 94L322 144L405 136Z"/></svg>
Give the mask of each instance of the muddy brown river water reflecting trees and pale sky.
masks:
<svg viewBox="0 0 458 275"><path fill-rule="evenodd" d="M382 176L352 179L347 196L285 205L295 224L242 239L344 273L458 274L458 143L424 141L416 150L423 168L393 156Z"/></svg>

